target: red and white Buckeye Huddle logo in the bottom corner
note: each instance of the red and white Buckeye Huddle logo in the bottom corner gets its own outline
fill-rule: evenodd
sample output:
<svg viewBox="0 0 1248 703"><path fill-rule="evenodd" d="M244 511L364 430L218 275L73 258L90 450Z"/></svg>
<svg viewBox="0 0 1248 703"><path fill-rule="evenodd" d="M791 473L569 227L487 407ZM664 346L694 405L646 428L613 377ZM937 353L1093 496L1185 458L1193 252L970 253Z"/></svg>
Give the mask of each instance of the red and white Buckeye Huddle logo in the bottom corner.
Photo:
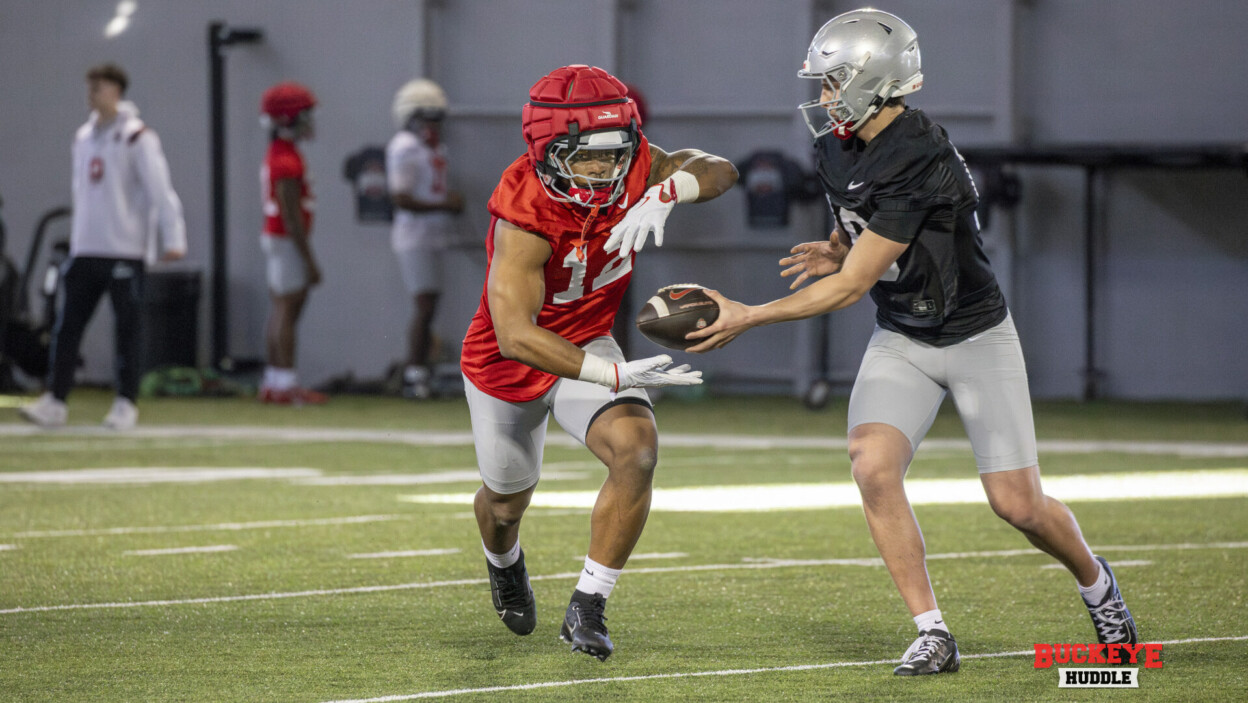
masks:
<svg viewBox="0 0 1248 703"><path fill-rule="evenodd" d="M1058 667L1058 688L1139 688L1139 668L1162 668L1161 644L1036 644L1037 669L1053 664L1102 664L1101 667Z"/></svg>

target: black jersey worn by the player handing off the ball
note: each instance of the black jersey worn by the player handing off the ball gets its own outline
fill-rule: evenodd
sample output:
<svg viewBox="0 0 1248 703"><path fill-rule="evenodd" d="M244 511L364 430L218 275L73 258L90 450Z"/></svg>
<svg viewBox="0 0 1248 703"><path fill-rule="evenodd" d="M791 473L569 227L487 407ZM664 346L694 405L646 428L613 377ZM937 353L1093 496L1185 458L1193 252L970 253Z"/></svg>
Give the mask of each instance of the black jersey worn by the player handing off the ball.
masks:
<svg viewBox="0 0 1248 703"><path fill-rule="evenodd" d="M1006 317L975 215L978 194L945 129L907 109L870 144L825 135L819 179L841 231L909 245L871 287L880 326L948 346Z"/></svg>

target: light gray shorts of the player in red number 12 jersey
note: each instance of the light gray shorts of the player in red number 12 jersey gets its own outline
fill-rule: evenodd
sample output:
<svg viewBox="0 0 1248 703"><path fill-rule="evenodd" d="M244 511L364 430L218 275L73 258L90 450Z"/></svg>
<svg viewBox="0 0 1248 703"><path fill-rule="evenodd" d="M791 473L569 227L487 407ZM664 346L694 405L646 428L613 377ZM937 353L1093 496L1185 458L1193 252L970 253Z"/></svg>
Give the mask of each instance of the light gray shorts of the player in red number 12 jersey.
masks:
<svg viewBox="0 0 1248 703"><path fill-rule="evenodd" d="M624 361L619 345L610 337L598 337L582 348L607 361ZM480 479L490 491L504 496L532 488L540 478L542 450L550 415L584 445L589 426L607 408L622 403L650 407L649 396L640 388L613 393L605 386L573 378L560 378L540 398L523 403L498 400L467 377L464 395L468 397Z"/></svg>

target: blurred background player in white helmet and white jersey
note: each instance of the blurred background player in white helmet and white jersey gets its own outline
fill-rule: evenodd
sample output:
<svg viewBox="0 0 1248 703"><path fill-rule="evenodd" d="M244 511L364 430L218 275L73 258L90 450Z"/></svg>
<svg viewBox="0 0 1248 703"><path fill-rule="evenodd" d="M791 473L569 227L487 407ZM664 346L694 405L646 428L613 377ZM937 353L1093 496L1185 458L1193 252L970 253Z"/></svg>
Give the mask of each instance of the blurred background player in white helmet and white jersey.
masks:
<svg viewBox="0 0 1248 703"><path fill-rule="evenodd" d="M413 311L407 335L403 395L433 395L433 317L442 295L443 258L453 234L453 216L463 196L447 184L447 147L442 121L447 95L428 79L408 81L394 94L398 132L386 145L386 181L394 205L391 248L398 260Z"/></svg>

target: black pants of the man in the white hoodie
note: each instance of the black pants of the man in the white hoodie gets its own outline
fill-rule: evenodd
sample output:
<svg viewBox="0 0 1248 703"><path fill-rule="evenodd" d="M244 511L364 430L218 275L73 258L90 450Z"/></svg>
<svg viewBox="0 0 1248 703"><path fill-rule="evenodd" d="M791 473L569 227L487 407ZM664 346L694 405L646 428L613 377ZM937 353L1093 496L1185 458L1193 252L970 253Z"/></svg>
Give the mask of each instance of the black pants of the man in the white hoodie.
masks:
<svg viewBox="0 0 1248 703"><path fill-rule="evenodd" d="M75 256L66 262L61 278L65 297L52 327L51 370L47 372L47 388L57 400L69 397L74 387L82 332L105 292L116 317L117 395L131 402L139 397L144 271L144 262L132 258Z"/></svg>

